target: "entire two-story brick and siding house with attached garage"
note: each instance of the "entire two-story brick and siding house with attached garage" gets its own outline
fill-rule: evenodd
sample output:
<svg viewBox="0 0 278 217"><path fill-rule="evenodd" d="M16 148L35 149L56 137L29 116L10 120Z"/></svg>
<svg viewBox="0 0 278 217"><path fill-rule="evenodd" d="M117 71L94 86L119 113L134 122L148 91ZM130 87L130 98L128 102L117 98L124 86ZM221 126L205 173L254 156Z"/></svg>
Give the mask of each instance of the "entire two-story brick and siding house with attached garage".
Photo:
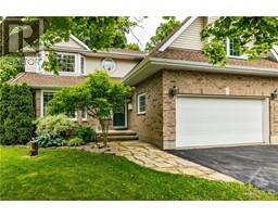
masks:
<svg viewBox="0 0 278 217"><path fill-rule="evenodd" d="M128 128L161 149L278 143L278 52L249 61L227 38L226 67L208 63L200 33L217 17L190 16L148 55L110 50L92 52L75 37L54 46L60 76L41 68L46 51L27 56L26 72L12 84L34 90L37 117L61 87L73 86L96 68L135 87L114 128ZM35 64L38 60L38 64ZM86 110L76 117L87 122Z"/></svg>

